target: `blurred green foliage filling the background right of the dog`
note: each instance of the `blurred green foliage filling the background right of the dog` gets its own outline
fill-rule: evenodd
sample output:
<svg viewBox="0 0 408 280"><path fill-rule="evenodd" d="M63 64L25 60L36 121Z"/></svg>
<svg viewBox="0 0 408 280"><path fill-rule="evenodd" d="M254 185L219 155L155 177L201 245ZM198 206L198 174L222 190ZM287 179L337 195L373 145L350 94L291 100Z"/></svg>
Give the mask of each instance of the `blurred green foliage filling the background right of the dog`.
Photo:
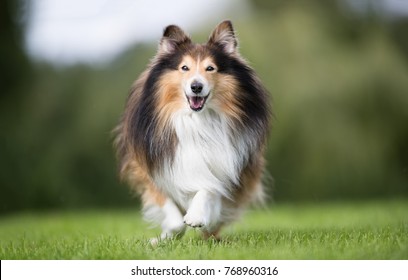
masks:
<svg viewBox="0 0 408 280"><path fill-rule="evenodd" d="M402 20L358 15L341 0L252 3L246 49L275 100L275 198L407 196Z"/></svg>

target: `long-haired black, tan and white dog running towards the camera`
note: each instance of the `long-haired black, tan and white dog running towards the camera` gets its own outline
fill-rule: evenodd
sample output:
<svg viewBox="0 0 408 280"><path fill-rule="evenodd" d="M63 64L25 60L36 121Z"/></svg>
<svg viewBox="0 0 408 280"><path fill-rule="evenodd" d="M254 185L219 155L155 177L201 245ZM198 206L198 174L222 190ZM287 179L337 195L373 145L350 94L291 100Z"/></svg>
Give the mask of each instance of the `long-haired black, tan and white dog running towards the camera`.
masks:
<svg viewBox="0 0 408 280"><path fill-rule="evenodd" d="M269 94L237 47L228 20L205 44L169 25L131 88L116 150L145 219L161 225L153 244L188 226L218 239L263 196Z"/></svg>

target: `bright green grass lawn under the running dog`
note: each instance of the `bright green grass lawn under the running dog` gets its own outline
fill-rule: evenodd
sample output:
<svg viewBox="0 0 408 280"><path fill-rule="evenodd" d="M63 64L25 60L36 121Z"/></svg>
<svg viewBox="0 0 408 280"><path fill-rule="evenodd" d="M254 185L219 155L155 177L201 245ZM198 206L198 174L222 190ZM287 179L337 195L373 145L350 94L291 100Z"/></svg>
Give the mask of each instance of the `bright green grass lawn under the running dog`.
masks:
<svg viewBox="0 0 408 280"><path fill-rule="evenodd" d="M408 201L250 210L221 242L157 234L137 211L19 214L0 219L0 259L408 259Z"/></svg>

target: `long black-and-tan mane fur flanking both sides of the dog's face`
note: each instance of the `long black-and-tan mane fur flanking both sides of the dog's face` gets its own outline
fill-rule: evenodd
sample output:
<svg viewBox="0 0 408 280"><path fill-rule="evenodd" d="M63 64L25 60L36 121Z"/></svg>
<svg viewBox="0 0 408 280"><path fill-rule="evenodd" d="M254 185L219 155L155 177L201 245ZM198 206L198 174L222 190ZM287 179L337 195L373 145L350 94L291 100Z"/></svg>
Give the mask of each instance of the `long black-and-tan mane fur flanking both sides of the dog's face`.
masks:
<svg viewBox="0 0 408 280"><path fill-rule="evenodd" d="M220 110L229 118L237 135L242 132L252 135L248 144L264 145L270 121L267 90L241 57L227 55L219 49L213 49L211 53L220 65L222 75L217 91L224 90L219 92L219 107L211 109ZM122 133L127 136L119 139L120 145L124 146L122 149L132 151L139 164L149 170L165 161L172 162L178 143L172 115L166 113L163 105L159 106L160 94L168 95L166 91L173 90L169 88L171 84L163 86L160 77L177 68L174 57L181 57L181 54L171 59L168 55L156 57L150 70L132 88L122 121Z"/></svg>

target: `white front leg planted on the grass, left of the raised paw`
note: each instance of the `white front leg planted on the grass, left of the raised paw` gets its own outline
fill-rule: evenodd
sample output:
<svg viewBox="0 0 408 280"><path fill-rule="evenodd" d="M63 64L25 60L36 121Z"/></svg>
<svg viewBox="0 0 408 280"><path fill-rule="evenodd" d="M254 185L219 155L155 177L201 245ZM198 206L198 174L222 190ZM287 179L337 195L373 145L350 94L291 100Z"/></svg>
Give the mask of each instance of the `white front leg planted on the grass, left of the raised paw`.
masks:
<svg viewBox="0 0 408 280"><path fill-rule="evenodd" d="M171 199L166 200L161 211L164 216L161 223L162 233L160 238L152 238L150 240L150 243L153 245L157 244L160 240L182 236L186 229L183 216Z"/></svg>

